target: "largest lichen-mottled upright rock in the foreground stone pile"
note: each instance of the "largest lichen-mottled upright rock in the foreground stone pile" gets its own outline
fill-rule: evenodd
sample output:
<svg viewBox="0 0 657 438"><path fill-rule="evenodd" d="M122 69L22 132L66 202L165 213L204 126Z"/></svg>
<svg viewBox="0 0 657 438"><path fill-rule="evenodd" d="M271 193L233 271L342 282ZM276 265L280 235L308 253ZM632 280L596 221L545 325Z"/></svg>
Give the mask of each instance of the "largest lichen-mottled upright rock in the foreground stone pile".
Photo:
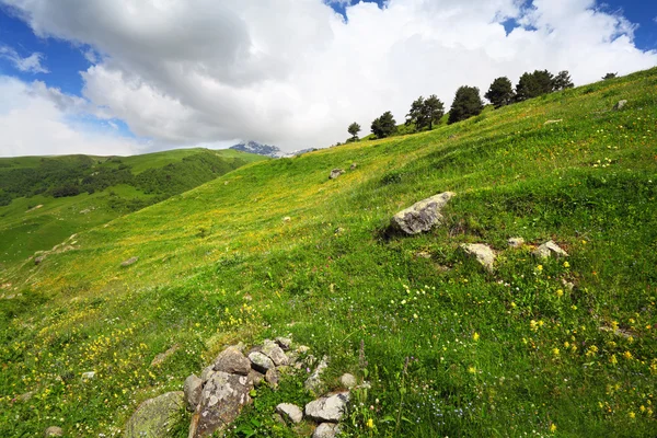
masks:
<svg viewBox="0 0 657 438"><path fill-rule="evenodd" d="M217 371L203 389L200 404L189 424L189 438L208 437L223 430L251 403L253 389L246 376Z"/></svg>

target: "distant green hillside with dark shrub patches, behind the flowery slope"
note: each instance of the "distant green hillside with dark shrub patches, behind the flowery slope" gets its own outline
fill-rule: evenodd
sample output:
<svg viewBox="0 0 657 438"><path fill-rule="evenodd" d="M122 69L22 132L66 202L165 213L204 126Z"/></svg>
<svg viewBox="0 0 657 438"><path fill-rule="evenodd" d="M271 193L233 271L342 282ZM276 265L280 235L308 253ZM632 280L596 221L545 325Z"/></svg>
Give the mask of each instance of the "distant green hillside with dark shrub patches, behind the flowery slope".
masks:
<svg viewBox="0 0 657 438"><path fill-rule="evenodd" d="M0 267L261 160L208 149L0 158Z"/></svg>

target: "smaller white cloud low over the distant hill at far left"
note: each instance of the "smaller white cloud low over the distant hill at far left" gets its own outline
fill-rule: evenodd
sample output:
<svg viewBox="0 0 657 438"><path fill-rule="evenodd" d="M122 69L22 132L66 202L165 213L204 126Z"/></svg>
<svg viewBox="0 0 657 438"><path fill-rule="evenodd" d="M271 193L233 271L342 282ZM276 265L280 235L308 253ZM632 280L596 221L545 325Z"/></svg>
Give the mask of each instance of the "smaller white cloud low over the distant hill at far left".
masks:
<svg viewBox="0 0 657 438"><path fill-rule="evenodd" d="M149 145L112 132L90 119L88 103L0 76L0 157L42 154L134 154Z"/></svg>

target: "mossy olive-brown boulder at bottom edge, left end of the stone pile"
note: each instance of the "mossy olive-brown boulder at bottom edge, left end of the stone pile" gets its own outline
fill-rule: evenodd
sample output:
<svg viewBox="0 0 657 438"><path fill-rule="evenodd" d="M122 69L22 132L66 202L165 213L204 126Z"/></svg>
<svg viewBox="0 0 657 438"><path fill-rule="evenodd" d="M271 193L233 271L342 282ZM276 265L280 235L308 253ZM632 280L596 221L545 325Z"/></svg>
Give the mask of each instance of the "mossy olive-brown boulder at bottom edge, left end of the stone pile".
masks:
<svg viewBox="0 0 657 438"><path fill-rule="evenodd" d="M124 438L165 437L185 404L183 391L168 392L141 403L124 428Z"/></svg>

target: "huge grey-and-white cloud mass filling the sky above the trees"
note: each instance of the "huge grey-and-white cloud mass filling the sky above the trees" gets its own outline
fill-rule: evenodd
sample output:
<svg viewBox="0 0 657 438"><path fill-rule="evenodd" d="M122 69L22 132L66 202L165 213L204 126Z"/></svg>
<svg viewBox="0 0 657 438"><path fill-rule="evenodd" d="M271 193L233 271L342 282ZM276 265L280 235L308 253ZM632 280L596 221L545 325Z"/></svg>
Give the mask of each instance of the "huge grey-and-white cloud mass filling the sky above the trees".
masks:
<svg viewBox="0 0 657 438"><path fill-rule="evenodd" d="M583 84L657 64L595 0L359 2L346 21L323 0L2 2L37 35L102 54L84 96L158 147L322 147L388 110L401 122L420 94L449 106L459 85L483 92L498 76L567 69ZM507 19L523 26L507 35Z"/></svg>

